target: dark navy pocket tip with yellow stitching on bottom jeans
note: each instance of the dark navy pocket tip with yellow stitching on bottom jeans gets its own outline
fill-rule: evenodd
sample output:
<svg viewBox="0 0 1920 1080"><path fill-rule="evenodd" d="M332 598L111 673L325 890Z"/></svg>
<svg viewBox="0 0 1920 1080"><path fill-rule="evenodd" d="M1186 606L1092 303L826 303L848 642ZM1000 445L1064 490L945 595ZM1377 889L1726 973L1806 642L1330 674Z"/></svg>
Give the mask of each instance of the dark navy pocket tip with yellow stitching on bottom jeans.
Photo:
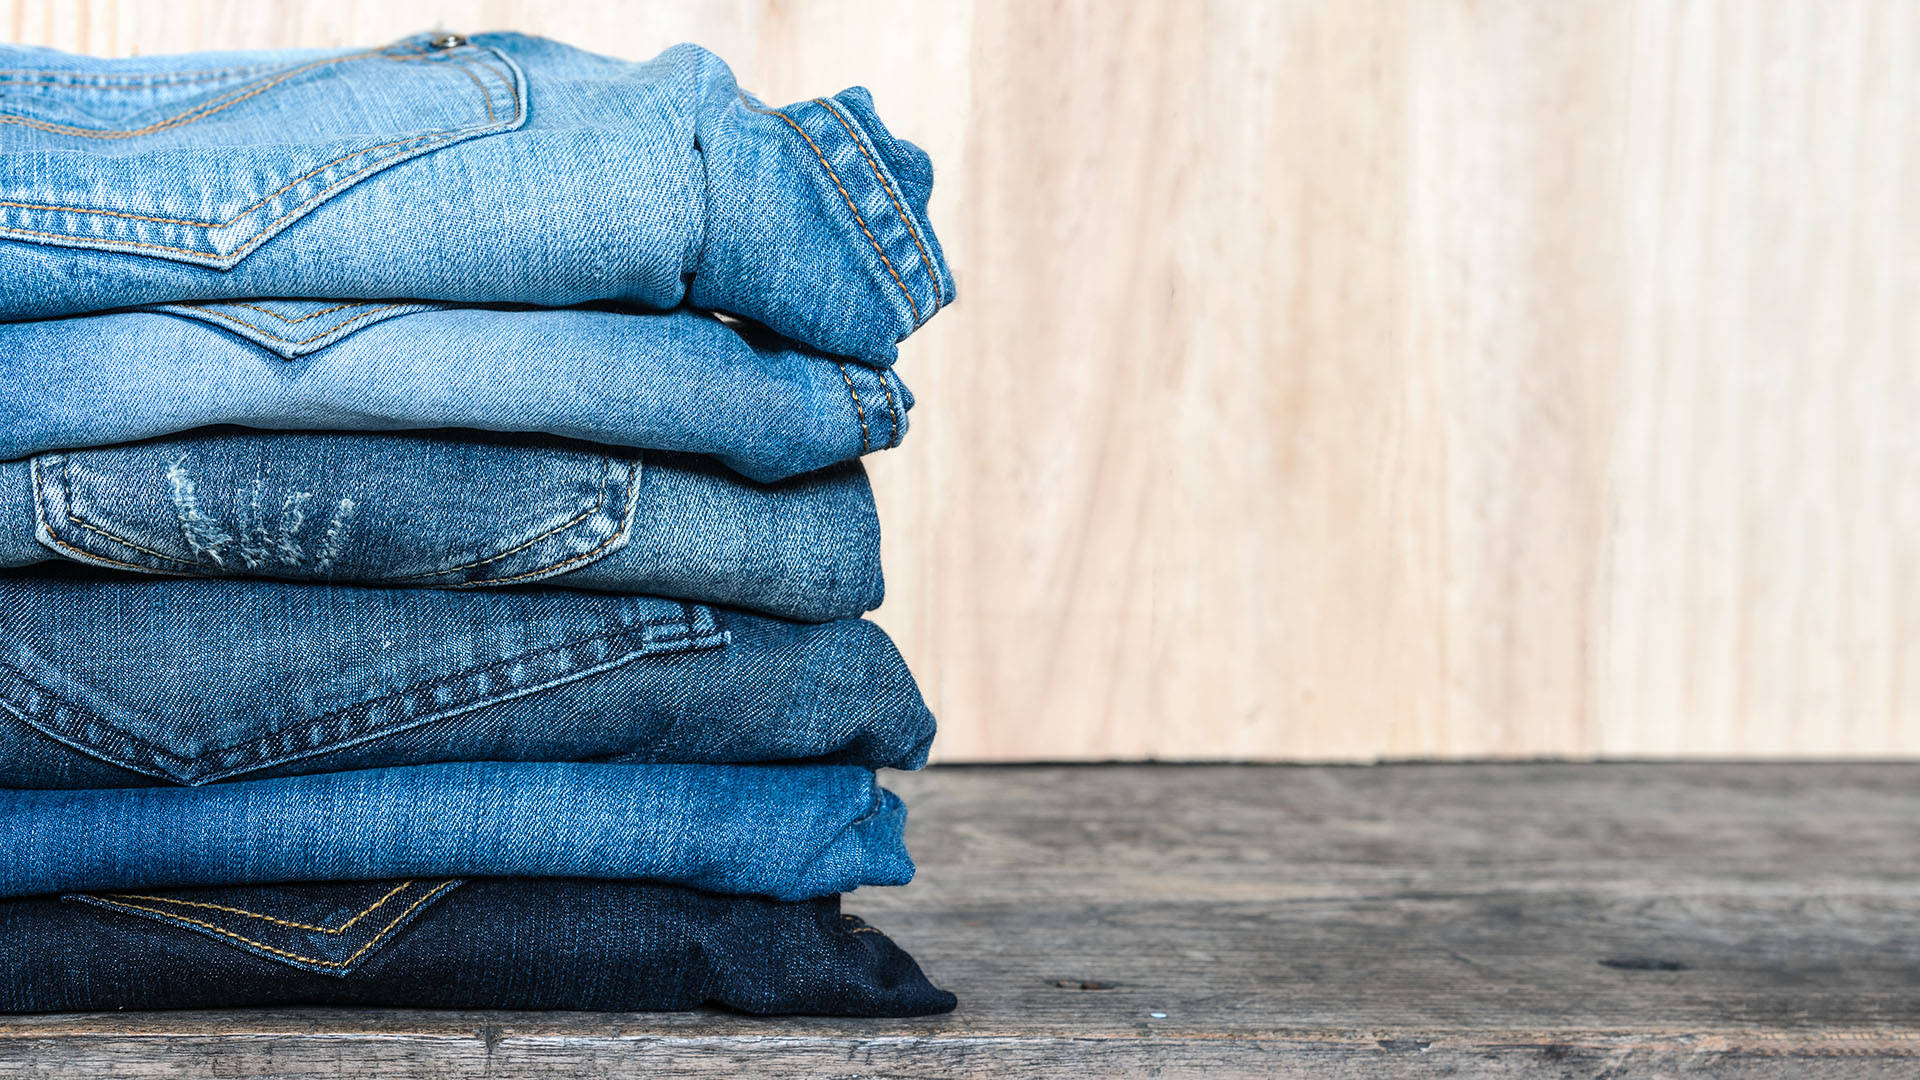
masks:
<svg viewBox="0 0 1920 1080"><path fill-rule="evenodd" d="M348 976L434 903L459 878L336 882L311 886L175 888L140 894L67 894L69 903L200 934L255 957ZM113 915L106 915L111 911Z"/></svg>

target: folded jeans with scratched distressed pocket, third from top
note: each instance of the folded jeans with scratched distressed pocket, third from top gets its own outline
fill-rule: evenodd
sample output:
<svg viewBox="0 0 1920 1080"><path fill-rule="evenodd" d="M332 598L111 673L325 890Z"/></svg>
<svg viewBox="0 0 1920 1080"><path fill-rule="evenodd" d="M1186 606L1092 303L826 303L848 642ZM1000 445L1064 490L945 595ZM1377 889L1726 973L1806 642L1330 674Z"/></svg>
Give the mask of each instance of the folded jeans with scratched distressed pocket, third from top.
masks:
<svg viewBox="0 0 1920 1080"><path fill-rule="evenodd" d="M858 461L755 484L551 438L228 429L0 461L0 567L478 588L545 582L826 621L879 605Z"/></svg>

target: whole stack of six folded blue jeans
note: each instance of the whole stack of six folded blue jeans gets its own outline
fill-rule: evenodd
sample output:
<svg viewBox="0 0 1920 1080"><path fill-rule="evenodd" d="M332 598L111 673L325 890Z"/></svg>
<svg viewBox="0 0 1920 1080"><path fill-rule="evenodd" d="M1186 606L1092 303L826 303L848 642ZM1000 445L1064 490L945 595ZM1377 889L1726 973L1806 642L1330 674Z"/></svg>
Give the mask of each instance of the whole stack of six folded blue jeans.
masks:
<svg viewBox="0 0 1920 1080"><path fill-rule="evenodd" d="M950 1009L864 90L518 35L0 73L0 1011Z"/></svg>

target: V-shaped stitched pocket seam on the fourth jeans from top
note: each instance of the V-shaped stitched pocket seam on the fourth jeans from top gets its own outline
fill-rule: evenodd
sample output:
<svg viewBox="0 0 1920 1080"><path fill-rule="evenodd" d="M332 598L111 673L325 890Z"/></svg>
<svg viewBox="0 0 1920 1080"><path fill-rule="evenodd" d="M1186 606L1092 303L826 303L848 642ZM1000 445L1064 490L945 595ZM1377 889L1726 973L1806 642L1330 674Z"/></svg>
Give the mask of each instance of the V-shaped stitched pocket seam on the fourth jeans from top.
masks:
<svg viewBox="0 0 1920 1080"><path fill-rule="evenodd" d="M79 713L83 721L90 721L90 723L98 724L100 728L106 728L106 730L117 734L119 740L125 742L125 749L115 751L115 749L109 749L106 746L100 746L100 742L106 742L106 740L86 740L86 738L75 736L69 730L73 724L67 724L60 732L48 730L46 726L40 726L40 724L33 723L33 717L29 717L27 711L23 711L19 705L15 705L13 701L10 701L6 696L0 696L0 709L12 713L21 723L33 726L35 730L50 734L50 736L58 738L60 742L67 742L69 746L73 746L75 749L81 749L83 753L88 753L88 755L94 755L94 757L106 757L113 765L121 765L125 769L132 769L136 773L146 773L150 776L161 776L161 778L169 778L169 780L175 780L175 782L182 782L182 784L194 786L194 784L204 784L204 782L209 782L209 780L219 780L219 778L225 778L225 776L238 776L238 774L244 774L244 773L257 773L261 769L273 769L275 765L284 765L288 761L300 761L303 757L319 757L319 755L324 755L324 753L334 753L338 749L346 749L349 746L357 746L357 744L372 740L372 738L384 738L384 736L390 736L390 734L399 734L403 730L411 730L411 728L432 724L432 723L445 721L445 719L451 719L451 717L474 713L478 709L486 709L486 707L492 707L492 705L499 705L503 701L513 701L513 700L518 700L518 698L540 694L540 692L551 690L555 686L564 686L568 682L578 682L582 678L589 678L593 675L599 675L599 673L605 673L605 671L612 671L616 667L622 667L626 663L637 661L641 657L670 655L670 653L676 653L676 651L699 651L699 650L726 646L728 640L730 640L726 630L714 630L714 632L707 632L707 634L699 634L695 630L691 607L693 605L685 605L685 603L682 605L682 611L685 615L678 623L674 623L674 621L639 623L636 626L622 626L618 630L609 630L609 632L603 632L603 634L591 634L591 636L586 636L586 638L574 638L574 640L559 642L559 644L545 646L545 648L540 648L540 650L528 650L524 653L516 653L516 655L511 655L511 657L501 657L497 661L490 661L490 663L484 663L484 665L478 665L478 667L457 671L457 673L451 673L451 675L445 675L445 676L440 676L440 678L420 680L420 682L403 686L399 690L382 694L378 698L369 698L365 701L355 701L351 705L334 709L330 713L323 713L319 717L307 717L303 723L294 723L294 724L290 724L286 728L273 730L273 732L250 738L250 740L242 740L242 742L236 742L236 744L230 744L230 746L211 748L211 749L207 749L207 751L204 751L204 753L200 753L196 757L182 757L180 753L175 753L173 749L167 749L165 746L159 746L159 744L156 744L152 740L146 740L146 738L142 738L142 736L138 736L138 734L134 734L134 732L131 732L131 730L127 730L127 728L123 728L123 726L108 721L106 717L102 717L100 713L96 713L96 711L92 711L92 709L88 709L84 705L69 701L67 698L63 698L63 696L60 696L60 694L56 694L56 692L40 686L38 682L35 682L33 678L29 678L25 671L17 669L15 665L12 665L8 661L0 661L0 671L10 673L13 678L17 678L25 686L33 688L36 694L44 694L46 698L50 698L54 701L60 701L61 705L65 705L73 713ZM649 630L649 628L676 628L678 632L676 632L676 636L659 636L659 638L651 638L649 640L649 638L645 638L645 630ZM513 688L509 692L503 692L503 694L488 694L488 696L474 698L474 700L468 700L468 701L463 701L463 703L447 703L445 707L442 707L438 711L424 711L424 713L419 713L419 715L413 715L413 717L397 717L394 721L367 723L367 717L376 707L380 707L380 705L384 705L388 701L409 698L409 696L419 694L419 692L422 692L426 688L455 684L455 682L472 678L474 675L486 673L490 669L499 669L499 667L505 667L505 665L513 665L513 663L524 661L526 657L530 657L534 653L553 651L553 650L570 650L570 648L576 648L576 646L586 646L589 642L597 642L597 640L605 640L605 638L618 638L618 636L634 634L634 632L641 634L641 640L637 642L637 648L634 648L634 650L630 650L626 653L620 653L620 655L616 655L612 659L607 659L603 663L597 663L597 665L591 665L591 667L586 667L586 669L578 669L578 671L568 671L564 675L559 675L559 676L549 678L545 682L536 682L532 686L516 686L516 688ZM4 692L0 692L0 694L4 694ZM261 749L257 749L257 748L263 748L263 746L267 746L267 744L271 744L275 740L280 740L284 744L296 732L313 732L315 728L321 728L321 726L324 726L328 723L336 723L340 717L348 717L351 713L359 713L359 717L357 717L359 723L353 728L349 728L344 734L340 734L338 738L334 738L332 742L328 742L326 746L301 748L301 749L296 749L292 753L278 753L278 755L276 753L263 753ZM194 767L194 765L205 767L211 761L217 761L217 759L223 759L223 757L232 757L236 753L253 755L255 761L248 761L248 763L242 763L242 765L228 765L225 769L207 769L204 774L200 774L196 778L182 780L182 773L190 773L190 767ZM134 763L132 757L140 757L140 759L144 759L144 763ZM159 765L161 761L177 763L177 767L175 769L167 769L167 767Z"/></svg>

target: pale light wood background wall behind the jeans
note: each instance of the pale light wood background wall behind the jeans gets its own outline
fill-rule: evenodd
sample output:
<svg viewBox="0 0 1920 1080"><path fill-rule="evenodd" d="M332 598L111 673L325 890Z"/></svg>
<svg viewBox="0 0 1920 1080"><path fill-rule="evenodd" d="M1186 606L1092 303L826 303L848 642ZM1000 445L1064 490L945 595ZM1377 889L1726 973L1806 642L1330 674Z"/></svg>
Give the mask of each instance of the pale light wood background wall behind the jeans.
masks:
<svg viewBox="0 0 1920 1080"><path fill-rule="evenodd" d="M1920 2L0 0L436 25L933 154L874 477L943 759L1920 753Z"/></svg>

